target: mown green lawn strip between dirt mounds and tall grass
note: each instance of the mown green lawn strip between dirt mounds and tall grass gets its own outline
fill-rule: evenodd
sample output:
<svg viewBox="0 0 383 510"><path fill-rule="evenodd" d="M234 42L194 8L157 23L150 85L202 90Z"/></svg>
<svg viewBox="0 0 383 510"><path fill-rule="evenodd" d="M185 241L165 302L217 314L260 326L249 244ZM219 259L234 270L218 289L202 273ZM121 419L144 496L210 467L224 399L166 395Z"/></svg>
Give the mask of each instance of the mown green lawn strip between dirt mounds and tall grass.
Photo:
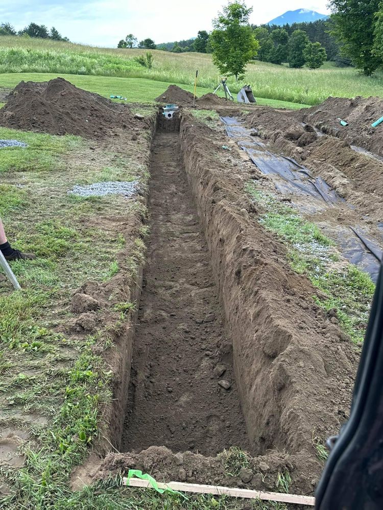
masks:
<svg viewBox="0 0 383 510"><path fill-rule="evenodd" d="M53 80L60 76L65 78L84 90L96 92L105 97L111 94L123 95L127 97L131 103L153 103L154 99L164 92L169 85L178 85L189 92L193 92L194 86L183 84L181 82L162 82L146 78L118 78L104 76L82 76L78 74L65 73L3 73L0 74L0 87L13 88L20 81L45 82ZM211 88L197 87L197 96L200 97L208 92L212 92ZM223 96L223 93L220 94ZM289 101L257 98L258 104L262 106L271 106L273 108L304 108L304 104L290 103Z"/></svg>

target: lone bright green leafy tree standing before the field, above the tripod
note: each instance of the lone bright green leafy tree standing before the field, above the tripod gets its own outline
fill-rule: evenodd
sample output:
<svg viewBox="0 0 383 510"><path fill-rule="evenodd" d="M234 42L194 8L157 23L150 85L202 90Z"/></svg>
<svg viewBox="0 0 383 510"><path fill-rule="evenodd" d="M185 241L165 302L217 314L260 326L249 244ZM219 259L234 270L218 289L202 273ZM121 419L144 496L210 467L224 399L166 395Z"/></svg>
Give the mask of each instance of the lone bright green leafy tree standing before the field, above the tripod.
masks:
<svg viewBox="0 0 383 510"><path fill-rule="evenodd" d="M249 25L252 9L244 3L229 2L213 20L214 30L210 35L213 64L222 74L234 75L235 80L243 75L246 65L257 55L258 41Z"/></svg>

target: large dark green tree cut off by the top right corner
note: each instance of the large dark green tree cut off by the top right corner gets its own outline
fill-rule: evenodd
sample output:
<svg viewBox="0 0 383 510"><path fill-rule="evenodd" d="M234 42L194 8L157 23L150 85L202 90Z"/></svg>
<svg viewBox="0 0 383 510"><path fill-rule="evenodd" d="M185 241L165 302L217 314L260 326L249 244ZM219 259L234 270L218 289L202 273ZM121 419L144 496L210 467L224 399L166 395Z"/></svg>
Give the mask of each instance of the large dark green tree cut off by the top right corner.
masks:
<svg viewBox="0 0 383 510"><path fill-rule="evenodd" d="M341 43L341 52L357 69L369 76L383 64L376 53L375 25L381 0L330 0L333 11L332 35Z"/></svg>

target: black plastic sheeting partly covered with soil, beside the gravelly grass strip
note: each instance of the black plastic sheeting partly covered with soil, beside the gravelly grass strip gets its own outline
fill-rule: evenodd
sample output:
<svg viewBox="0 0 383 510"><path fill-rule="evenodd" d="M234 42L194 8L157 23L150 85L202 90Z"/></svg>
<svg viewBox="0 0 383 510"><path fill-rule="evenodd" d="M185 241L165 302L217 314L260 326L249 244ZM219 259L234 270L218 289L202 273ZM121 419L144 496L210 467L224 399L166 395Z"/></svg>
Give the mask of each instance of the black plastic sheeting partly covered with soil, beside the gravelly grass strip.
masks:
<svg viewBox="0 0 383 510"><path fill-rule="evenodd" d="M235 118L221 117L221 120L228 136L248 153L251 161L262 173L273 177L275 187L281 193L312 197L310 205L314 210L345 202L321 177L315 177L292 158L270 152L259 137L251 136L250 130ZM299 200L294 202L294 206L305 209ZM383 224L378 227L383 232ZM374 282L377 281L382 250L376 240L371 239L359 226L347 228L339 225L338 230L329 237L336 240L347 260L367 272Z"/></svg>

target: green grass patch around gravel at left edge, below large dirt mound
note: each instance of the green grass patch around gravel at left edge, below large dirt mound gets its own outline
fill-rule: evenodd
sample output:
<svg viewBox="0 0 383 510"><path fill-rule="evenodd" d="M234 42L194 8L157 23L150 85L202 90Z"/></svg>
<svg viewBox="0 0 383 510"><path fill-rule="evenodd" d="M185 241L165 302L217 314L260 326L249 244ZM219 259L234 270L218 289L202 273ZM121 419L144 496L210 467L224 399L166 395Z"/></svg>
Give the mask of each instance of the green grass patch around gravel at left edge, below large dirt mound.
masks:
<svg viewBox="0 0 383 510"><path fill-rule="evenodd" d="M28 147L3 147L1 149L0 173L47 171L63 168L58 158L80 145L81 139L73 135L52 136L0 127L0 138L25 142Z"/></svg>

